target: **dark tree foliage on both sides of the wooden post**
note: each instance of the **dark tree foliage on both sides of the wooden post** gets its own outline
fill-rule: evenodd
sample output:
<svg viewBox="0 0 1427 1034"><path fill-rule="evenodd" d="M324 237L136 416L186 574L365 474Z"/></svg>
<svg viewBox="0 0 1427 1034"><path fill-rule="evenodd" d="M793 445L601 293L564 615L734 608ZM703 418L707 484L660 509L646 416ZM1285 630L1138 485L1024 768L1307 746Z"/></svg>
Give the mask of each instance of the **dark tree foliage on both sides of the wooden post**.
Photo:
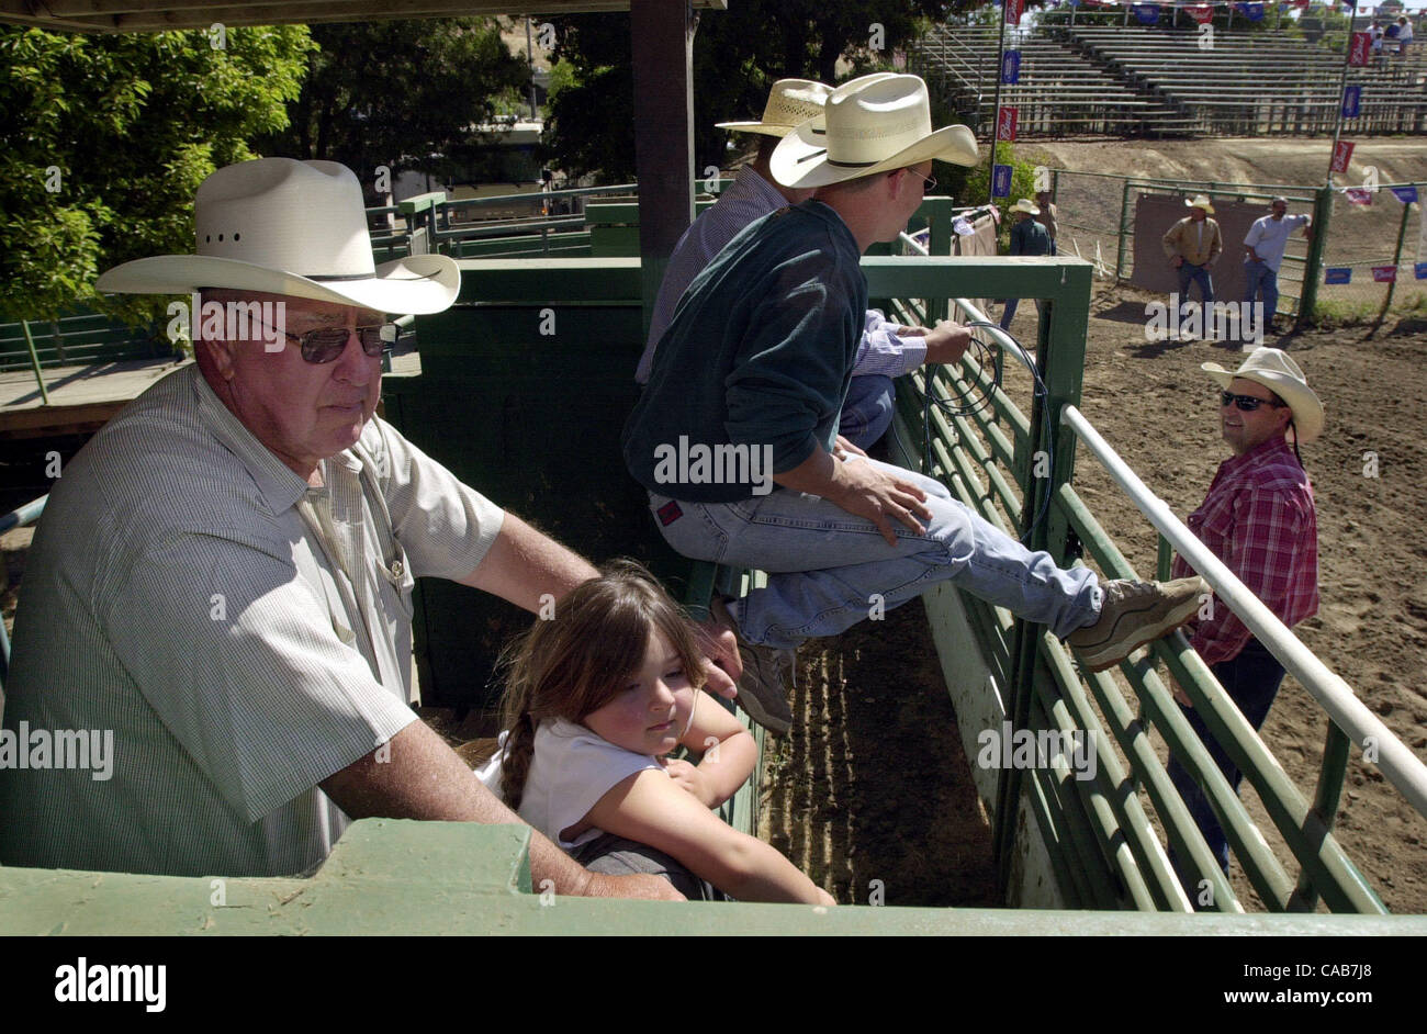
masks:
<svg viewBox="0 0 1427 1034"><path fill-rule="evenodd" d="M835 83L839 58L853 73L883 61L915 39L920 19L943 19L975 0L739 0L705 11L694 37L694 151L696 168L723 165L728 133L719 121L756 117L779 78ZM626 14L552 19L552 58L574 83L551 100L549 160L572 175L605 183L634 178L634 71Z"/></svg>

